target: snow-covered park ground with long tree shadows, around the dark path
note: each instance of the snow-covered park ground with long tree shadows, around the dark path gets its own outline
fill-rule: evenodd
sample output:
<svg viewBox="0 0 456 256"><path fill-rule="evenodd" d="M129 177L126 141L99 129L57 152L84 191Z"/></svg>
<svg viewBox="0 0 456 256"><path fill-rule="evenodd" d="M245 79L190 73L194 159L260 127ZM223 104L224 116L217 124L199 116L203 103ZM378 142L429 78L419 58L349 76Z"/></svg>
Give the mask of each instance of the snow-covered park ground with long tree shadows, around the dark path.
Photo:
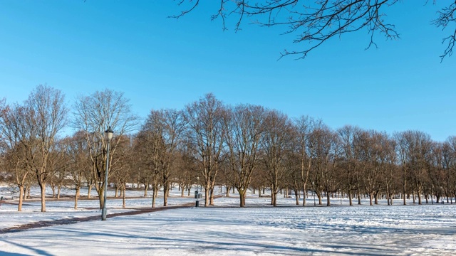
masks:
<svg viewBox="0 0 456 256"><path fill-rule="evenodd" d="M63 191L64 193L73 193ZM108 213L150 207L142 191L128 191L128 209L121 199L108 200ZM95 194L95 193L93 193ZM237 196L233 194L232 196ZM123 215L107 221L33 228L0 234L0 255L455 255L456 204L423 206L294 206L294 198L222 197L215 206L177 208L140 215ZM170 206L194 202L180 198L175 189ZM14 201L9 201L14 202ZM203 202L201 202L203 203ZM157 206L162 204L158 198ZM410 204L412 204L410 202ZM40 220L100 215L97 200L26 201L23 212L15 205L0 207L0 229ZM232 207L234 206L234 207Z"/></svg>

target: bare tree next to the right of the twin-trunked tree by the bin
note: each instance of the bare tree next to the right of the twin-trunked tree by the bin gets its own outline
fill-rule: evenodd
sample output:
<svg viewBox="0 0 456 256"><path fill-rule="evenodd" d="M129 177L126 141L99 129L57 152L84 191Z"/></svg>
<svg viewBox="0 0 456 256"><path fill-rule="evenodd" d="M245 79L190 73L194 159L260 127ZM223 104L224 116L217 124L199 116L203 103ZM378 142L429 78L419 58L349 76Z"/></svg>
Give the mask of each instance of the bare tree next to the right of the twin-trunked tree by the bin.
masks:
<svg viewBox="0 0 456 256"><path fill-rule="evenodd" d="M259 162L265 114L263 107L237 105L227 121L227 158L232 174L227 178L239 192L240 207L245 206L245 194Z"/></svg>

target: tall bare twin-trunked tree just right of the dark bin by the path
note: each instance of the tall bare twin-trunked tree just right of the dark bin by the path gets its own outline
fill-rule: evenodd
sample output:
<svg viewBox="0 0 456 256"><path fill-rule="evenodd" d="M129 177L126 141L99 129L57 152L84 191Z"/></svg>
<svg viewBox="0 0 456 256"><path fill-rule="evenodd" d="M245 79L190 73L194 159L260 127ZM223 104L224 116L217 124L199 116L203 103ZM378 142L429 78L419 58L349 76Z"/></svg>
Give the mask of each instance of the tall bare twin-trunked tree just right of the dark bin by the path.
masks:
<svg viewBox="0 0 456 256"><path fill-rule="evenodd" d="M214 203L217 165L222 161L221 154L227 132L226 110L222 102L209 93L199 101L185 106L184 118L204 179L204 206L209 206Z"/></svg>

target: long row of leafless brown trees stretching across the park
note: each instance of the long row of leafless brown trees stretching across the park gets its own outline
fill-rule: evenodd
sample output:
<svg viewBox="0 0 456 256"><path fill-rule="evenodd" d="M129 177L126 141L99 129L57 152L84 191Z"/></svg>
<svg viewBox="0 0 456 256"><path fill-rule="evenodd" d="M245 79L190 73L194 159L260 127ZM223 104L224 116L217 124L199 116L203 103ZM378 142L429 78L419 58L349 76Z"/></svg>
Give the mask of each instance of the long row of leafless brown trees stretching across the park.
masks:
<svg viewBox="0 0 456 256"><path fill-rule="evenodd" d="M314 191L327 205L335 194L361 203L378 198L415 198L418 204L435 196L456 196L456 137L434 142L420 131L386 134L346 125L331 129L312 117L290 119L277 110L256 105L224 105L212 94L183 110L152 110L144 122L132 113L123 93L112 90L78 97L69 111L61 91L39 85L24 103L0 104L1 174L19 188L19 208L26 191L41 187L41 210L46 210L46 185L98 193L103 208L108 141L109 183L123 193L127 183L142 184L147 196L172 186L190 196L192 185L204 188L204 206L214 202L214 188L239 192L245 205L248 189L271 191L276 206L279 191ZM65 127L77 132L62 137ZM125 201L124 201L125 206Z"/></svg>

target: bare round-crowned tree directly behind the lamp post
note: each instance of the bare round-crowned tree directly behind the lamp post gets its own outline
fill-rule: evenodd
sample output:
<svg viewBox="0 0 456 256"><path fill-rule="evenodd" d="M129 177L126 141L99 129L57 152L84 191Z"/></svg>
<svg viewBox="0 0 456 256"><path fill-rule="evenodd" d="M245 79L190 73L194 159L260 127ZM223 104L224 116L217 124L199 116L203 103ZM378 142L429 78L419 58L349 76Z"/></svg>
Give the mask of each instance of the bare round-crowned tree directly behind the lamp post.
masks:
<svg viewBox="0 0 456 256"><path fill-rule="evenodd" d="M105 130L112 127L115 137L122 138L138 124L138 117L131 112L129 100L123 92L113 90L97 91L90 96L81 96L75 103L73 127L86 133L88 153L90 156L91 178L98 192L100 208L103 208L105 163L108 139ZM116 148L122 139L113 139L110 144L110 166L118 160ZM109 172L110 173L110 172ZM109 174L108 174L109 175Z"/></svg>

